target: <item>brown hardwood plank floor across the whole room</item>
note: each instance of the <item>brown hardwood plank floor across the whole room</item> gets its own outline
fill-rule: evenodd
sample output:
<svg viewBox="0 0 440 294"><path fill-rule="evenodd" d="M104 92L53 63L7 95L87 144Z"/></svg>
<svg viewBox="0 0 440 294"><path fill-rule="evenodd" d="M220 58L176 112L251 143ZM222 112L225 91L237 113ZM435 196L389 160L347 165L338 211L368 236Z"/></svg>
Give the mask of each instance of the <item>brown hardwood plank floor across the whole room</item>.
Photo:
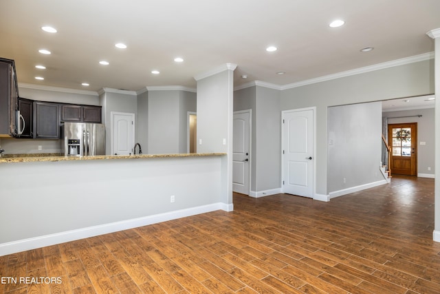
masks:
<svg viewBox="0 0 440 294"><path fill-rule="evenodd" d="M440 293L433 230L433 179L330 202L235 194L230 213L2 256L0 293Z"/></svg>

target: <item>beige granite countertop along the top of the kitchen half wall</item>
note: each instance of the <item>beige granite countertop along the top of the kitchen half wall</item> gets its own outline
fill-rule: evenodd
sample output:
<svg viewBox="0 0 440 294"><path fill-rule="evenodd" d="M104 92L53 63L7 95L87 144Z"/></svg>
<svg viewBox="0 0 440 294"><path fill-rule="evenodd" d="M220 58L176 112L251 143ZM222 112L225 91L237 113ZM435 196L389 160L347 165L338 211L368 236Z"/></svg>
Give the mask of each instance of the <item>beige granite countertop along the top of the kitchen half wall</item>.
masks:
<svg viewBox="0 0 440 294"><path fill-rule="evenodd" d="M135 158L179 158L179 157L202 157L223 156L225 153L182 153L182 154L135 154L135 155L97 155L97 156L41 156L40 154L27 154L26 156L0 157L1 163L10 162L41 162L41 161L66 161L66 160L116 160Z"/></svg>

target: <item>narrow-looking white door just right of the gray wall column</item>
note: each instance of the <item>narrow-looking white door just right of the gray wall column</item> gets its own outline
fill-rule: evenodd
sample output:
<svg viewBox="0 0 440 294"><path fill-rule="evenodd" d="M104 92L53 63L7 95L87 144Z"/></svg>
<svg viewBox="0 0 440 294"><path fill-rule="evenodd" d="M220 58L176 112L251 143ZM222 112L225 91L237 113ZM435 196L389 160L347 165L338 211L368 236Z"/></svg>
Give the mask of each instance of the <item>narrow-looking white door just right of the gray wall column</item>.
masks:
<svg viewBox="0 0 440 294"><path fill-rule="evenodd" d="M250 110L234 112L232 144L232 191L250 192Z"/></svg>

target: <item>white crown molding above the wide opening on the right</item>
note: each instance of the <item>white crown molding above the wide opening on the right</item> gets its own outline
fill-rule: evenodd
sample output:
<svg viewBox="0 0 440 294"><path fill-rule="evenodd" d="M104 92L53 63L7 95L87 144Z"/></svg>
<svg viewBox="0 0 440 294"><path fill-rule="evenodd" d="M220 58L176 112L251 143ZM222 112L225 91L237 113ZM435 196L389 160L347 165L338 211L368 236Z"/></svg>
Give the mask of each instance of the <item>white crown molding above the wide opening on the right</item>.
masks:
<svg viewBox="0 0 440 294"><path fill-rule="evenodd" d="M288 90L295 87L302 87L305 85L311 85L315 83L321 83L325 81L331 81L336 78L344 78L346 76L354 76L355 74L364 74L366 72L373 72L375 70L384 70L389 67L395 67L398 65L406 65L408 63L415 63L419 61L426 61L429 59L434 59L434 52L428 52L424 54L419 54L415 56L406 57L404 59L396 59L394 61L387 61L384 63L377 63L375 65L370 65L366 67L360 67L355 70L347 70L346 72L338 72L336 74L329 74L327 76L320 76L318 78L311 78L309 80L300 81L297 83L287 84L281 86L281 90Z"/></svg>

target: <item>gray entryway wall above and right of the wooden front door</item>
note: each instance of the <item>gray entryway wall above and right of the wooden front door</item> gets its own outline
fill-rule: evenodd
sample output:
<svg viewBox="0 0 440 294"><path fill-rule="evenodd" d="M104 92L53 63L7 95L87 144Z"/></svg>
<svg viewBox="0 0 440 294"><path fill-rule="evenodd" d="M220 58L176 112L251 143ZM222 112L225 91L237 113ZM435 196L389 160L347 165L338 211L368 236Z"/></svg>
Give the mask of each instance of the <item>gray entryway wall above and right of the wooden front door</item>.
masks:
<svg viewBox="0 0 440 294"><path fill-rule="evenodd" d="M417 123L417 173L422 177L434 177L434 108L384 112L382 115L388 117L388 124ZM392 118L417 115L421 117ZM420 145L420 142L426 145Z"/></svg>

